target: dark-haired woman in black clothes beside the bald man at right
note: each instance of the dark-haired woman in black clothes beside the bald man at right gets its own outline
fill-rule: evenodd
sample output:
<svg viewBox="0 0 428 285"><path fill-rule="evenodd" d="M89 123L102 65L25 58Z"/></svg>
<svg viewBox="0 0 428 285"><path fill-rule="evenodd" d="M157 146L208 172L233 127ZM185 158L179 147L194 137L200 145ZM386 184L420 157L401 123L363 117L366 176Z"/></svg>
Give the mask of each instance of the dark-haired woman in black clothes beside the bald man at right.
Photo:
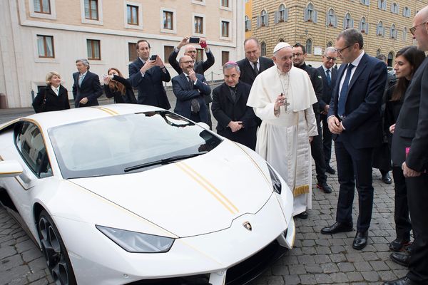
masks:
<svg viewBox="0 0 428 285"><path fill-rule="evenodd" d="M387 105L385 109L385 128L389 131L389 143L394 133L395 121L402 108L404 94L409 87L412 76L425 59L425 53L416 46L407 46L398 51L395 57L394 71L398 78L397 83L387 91ZM409 206L407 204L407 187L401 165L392 165L394 177L395 209L394 222L397 238L389 243L389 249L399 252L410 243L412 224L409 219Z"/></svg>

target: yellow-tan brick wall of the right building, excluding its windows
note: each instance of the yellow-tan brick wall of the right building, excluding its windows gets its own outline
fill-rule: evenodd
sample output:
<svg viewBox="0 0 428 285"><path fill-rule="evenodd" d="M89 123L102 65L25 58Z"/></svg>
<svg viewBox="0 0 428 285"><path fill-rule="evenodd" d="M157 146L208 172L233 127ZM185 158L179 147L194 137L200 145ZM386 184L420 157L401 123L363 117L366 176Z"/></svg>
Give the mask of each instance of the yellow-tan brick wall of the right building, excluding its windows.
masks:
<svg viewBox="0 0 428 285"><path fill-rule="evenodd" d="M297 42L305 45L307 39L312 40L312 50L308 51L307 62L313 66L320 66L321 53L324 52L327 43L334 46L335 38L344 29L343 21L345 14L349 13L353 19L353 27L359 28L362 17L365 17L369 24L368 33L363 33L365 41L365 51L372 56L376 56L379 51L385 56L391 53L392 61L400 48L414 44L409 28L412 27L414 15L428 5L427 0L384 0L386 9L378 8L378 0L312 0L312 1L281 1L281 0L253 0L253 36L266 43L267 56L272 56L275 44L282 38L290 44ZM369 3L368 5L364 3ZM398 4L398 14L391 11L392 4ZM275 11L280 4L285 4L288 10L287 21L275 24ZM305 8L308 4L313 5L317 11L317 23L305 21ZM404 7L410 9L409 16L403 16ZM268 25L257 27L257 18L261 11L265 9L268 14ZM333 9L337 16L337 27L327 26L327 13ZM377 35L377 25L382 21L384 26L384 36ZM395 25L397 37L391 38L389 30ZM407 29L407 36L403 38L404 28Z"/></svg>

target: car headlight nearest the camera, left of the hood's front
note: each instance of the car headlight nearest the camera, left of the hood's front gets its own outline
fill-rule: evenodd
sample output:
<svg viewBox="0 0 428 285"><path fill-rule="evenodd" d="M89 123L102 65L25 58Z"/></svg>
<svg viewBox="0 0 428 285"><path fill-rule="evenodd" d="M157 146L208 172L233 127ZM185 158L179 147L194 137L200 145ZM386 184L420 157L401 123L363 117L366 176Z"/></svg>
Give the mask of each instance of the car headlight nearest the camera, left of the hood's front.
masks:
<svg viewBox="0 0 428 285"><path fill-rule="evenodd" d="M141 232L131 232L98 225L96 225L96 228L127 252L168 252L174 243L174 239L170 237L160 237L153 234L143 234Z"/></svg>

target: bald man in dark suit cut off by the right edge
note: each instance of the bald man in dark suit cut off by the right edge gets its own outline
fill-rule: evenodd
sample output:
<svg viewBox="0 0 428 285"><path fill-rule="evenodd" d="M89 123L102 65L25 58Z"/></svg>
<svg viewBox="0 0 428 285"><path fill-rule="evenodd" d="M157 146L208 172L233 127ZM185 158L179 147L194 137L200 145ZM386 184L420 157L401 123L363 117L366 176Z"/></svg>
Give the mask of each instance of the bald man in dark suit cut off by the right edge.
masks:
<svg viewBox="0 0 428 285"><path fill-rule="evenodd" d="M428 51L428 6L414 16L410 28L417 48ZM391 259L409 266L401 279L387 285L428 284L428 59L419 66L404 95L392 135L392 162L402 165L414 242L412 254L394 252Z"/></svg>

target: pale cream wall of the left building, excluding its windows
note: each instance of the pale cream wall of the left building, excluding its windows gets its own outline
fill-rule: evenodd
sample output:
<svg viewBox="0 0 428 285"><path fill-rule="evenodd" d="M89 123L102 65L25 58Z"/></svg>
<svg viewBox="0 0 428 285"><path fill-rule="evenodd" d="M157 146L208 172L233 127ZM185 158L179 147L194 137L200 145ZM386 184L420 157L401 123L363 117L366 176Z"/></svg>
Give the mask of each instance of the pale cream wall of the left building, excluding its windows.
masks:
<svg viewBox="0 0 428 285"><path fill-rule="evenodd" d="M228 2L228 7L222 3ZM98 20L85 19L85 0L50 0L51 14L34 12L34 0L0 1L0 93L9 108L31 105L31 90L44 85L46 73L58 71L71 94L76 58L87 58L87 39L101 43L101 60L91 60L91 71L100 77L110 67L128 76L128 43L144 38L151 53L165 62L164 47L176 46L185 36L207 39L215 65L205 72L207 80L223 78L222 54L230 60L243 58L243 0L98 0ZM128 25L127 4L138 7L138 25ZM163 10L173 12L173 29L163 29ZM203 17L203 33L195 33L194 16ZM221 36L221 21L229 22L229 36ZM53 36L54 58L40 58L37 35ZM196 46L200 48L200 46ZM135 51L134 51L135 52ZM180 53L181 55L181 53ZM179 55L179 56L180 56ZM205 53L204 58L206 59ZM165 64L171 77L177 73ZM170 83L169 83L170 84Z"/></svg>

